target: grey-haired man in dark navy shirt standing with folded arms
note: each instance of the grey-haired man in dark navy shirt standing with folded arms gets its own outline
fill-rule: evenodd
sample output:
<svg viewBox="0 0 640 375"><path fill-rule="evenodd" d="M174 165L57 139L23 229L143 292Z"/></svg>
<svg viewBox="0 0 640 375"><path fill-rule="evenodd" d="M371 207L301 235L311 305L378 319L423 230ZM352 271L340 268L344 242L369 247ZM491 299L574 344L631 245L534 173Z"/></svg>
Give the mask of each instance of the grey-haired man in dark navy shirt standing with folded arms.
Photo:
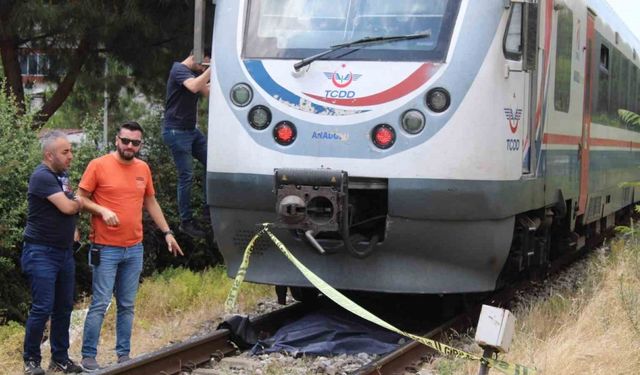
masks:
<svg viewBox="0 0 640 375"><path fill-rule="evenodd" d="M73 155L61 131L42 138L42 163L29 179L27 227L22 271L31 285L31 310L24 337L25 374L44 374L40 342L51 317L50 370L82 372L69 359L69 324L73 310L75 261L73 242L82 199L73 195L67 169Z"/></svg>

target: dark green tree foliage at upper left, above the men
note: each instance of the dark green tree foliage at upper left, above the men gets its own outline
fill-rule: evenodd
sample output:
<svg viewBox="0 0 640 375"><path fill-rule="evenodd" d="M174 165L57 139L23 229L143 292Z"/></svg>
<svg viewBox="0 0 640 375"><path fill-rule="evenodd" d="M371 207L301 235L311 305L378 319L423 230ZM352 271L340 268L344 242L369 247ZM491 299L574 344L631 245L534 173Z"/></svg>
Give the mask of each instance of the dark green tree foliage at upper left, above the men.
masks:
<svg viewBox="0 0 640 375"><path fill-rule="evenodd" d="M49 57L46 77L56 84L34 116L34 129L60 108L80 77L103 79L107 55L130 68L132 84L160 96L170 62L191 48L192 30L188 0L2 0L4 90L25 113L19 54L26 49Z"/></svg>

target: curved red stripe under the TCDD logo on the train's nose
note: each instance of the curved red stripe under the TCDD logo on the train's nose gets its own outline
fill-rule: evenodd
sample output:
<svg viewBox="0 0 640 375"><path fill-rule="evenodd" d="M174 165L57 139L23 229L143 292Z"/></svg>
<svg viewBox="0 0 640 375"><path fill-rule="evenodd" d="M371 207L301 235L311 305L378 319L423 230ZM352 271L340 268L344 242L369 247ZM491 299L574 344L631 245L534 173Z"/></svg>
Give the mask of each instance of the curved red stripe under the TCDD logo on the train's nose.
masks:
<svg viewBox="0 0 640 375"><path fill-rule="evenodd" d="M432 63L422 64L415 72L411 73L409 77L407 77L404 81L398 83L397 85L385 90L381 91L374 95L363 96L361 98L351 98L351 99L334 99L334 98L325 98L319 95L313 95L309 93L304 93L308 97L311 97L315 100L319 100L325 103L331 103L336 105L343 105L347 107L360 107L367 105L376 105L382 104L386 102L390 102L392 100L398 99L402 96L407 95L411 91L419 88L423 84L425 84L429 78L433 77L433 75L438 71L438 67L436 67Z"/></svg>

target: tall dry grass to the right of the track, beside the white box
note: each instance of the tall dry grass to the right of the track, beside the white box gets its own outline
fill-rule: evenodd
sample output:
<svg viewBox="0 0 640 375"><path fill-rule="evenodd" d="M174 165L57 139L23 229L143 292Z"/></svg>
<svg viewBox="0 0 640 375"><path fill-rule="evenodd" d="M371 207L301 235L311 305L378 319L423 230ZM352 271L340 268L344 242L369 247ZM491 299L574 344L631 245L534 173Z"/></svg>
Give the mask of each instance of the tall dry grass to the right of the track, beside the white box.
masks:
<svg viewBox="0 0 640 375"><path fill-rule="evenodd" d="M640 248L614 243L610 254L592 256L577 288L558 290L514 313L516 336L506 361L543 374L639 374ZM477 346L474 352L481 353ZM429 368L438 374L478 373L477 363L444 358Z"/></svg>

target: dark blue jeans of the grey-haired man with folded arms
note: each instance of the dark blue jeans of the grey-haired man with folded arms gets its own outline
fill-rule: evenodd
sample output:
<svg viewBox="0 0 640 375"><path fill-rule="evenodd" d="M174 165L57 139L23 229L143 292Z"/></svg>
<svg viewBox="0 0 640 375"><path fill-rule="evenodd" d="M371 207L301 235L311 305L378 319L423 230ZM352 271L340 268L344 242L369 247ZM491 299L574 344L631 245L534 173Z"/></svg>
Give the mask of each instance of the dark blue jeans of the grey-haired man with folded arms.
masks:
<svg viewBox="0 0 640 375"><path fill-rule="evenodd" d="M61 249L25 242L22 271L31 285L31 310L24 334L24 360L40 361L40 342L51 317L51 357L69 358L69 322L73 310L76 263L71 247Z"/></svg>

